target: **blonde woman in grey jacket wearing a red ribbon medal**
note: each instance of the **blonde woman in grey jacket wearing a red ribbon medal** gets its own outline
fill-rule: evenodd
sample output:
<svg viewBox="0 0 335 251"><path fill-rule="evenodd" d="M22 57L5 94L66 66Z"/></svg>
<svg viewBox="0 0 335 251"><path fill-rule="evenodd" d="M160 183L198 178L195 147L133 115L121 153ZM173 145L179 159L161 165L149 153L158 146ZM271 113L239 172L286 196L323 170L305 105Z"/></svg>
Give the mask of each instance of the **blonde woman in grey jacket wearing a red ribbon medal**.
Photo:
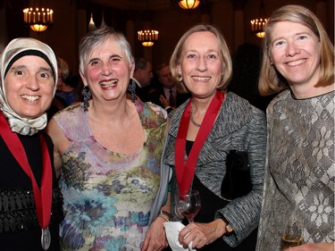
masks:
<svg viewBox="0 0 335 251"><path fill-rule="evenodd" d="M184 247L197 250L255 249L262 202L266 121L262 111L227 92L232 67L219 29L197 25L180 38L170 60L178 87L191 97L169 113L163 163L172 168L172 220L182 221L179 195L198 190L201 209L180 230ZM229 182L230 161L239 160L247 182ZM230 185L244 188L230 192ZM249 186L248 186L249 185Z"/></svg>

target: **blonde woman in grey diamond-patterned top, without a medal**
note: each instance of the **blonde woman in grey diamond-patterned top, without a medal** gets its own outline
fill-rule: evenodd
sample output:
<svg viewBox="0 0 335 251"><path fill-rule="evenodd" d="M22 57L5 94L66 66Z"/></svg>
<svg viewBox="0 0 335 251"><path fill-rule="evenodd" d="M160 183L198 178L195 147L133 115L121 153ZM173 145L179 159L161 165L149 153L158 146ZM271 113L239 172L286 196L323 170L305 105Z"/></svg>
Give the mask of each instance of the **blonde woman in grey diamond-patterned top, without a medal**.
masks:
<svg viewBox="0 0 335 251"><path fill-rule="evenodd" d="M314 13L286 5L265 27L259 89L267 108L264 201L257 250L279 251L293 212L298 250L334 250L334 47Z"/></svg>

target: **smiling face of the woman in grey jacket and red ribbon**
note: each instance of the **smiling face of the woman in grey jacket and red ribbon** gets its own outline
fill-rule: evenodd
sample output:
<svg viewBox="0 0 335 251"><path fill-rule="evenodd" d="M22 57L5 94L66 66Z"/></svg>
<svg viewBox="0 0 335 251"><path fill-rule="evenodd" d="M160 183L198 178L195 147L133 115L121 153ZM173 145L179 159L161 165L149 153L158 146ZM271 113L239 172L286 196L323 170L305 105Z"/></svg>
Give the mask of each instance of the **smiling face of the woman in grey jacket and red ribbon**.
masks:
<svg viewBox="0 0 335 251"><path fill-rule="evenodd" d="M200 31L186 39L177 72L192 96L214 96L222 79L222 64L218 39L212 32Z"/></svg>

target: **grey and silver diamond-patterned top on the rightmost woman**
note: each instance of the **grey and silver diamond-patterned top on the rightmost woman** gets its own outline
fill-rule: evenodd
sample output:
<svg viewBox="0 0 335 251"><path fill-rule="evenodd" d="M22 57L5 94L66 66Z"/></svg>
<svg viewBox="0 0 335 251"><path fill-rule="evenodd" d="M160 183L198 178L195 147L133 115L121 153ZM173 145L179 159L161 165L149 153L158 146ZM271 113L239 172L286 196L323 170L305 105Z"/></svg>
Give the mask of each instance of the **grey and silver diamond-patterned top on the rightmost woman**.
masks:
<svg viewBox="0 0 335 251"><path fill-rule="evenodd" d="M334 241L334 92L268 107L268 159L257 250L278 251L288 213L304 220L304 242Z"/></svg>

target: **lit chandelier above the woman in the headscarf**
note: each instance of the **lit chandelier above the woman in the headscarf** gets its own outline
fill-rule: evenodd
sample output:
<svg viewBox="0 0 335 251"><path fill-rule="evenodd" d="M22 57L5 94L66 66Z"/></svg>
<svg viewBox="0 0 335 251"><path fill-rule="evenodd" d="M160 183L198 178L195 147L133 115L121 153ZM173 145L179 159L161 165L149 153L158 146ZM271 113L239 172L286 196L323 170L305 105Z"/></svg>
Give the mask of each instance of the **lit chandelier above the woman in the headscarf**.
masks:
<svg viewBox="0 0 335 251"><path fill-rule="evenodd" d="M23 10L23 21L29 25L30 29L42 32L53 24L53 14L54 11L52 9L35 4L34 7L28 7Z"/></svg>

